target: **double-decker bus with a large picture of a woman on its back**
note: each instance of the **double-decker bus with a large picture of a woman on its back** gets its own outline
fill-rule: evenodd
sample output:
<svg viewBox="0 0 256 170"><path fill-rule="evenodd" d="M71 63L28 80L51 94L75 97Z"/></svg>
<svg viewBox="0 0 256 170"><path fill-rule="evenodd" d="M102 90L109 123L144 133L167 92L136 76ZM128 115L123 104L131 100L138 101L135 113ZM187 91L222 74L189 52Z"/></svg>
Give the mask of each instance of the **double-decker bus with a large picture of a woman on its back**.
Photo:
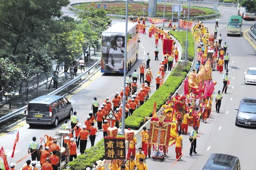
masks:
<svg viewBox="0 0 256 170"><path fill-rule="evenodd" d="M102 33L101 41L101 72L124 73L130 70L139 57L138 23L128 22L127 25L127 60L124 61L125 22L118 22Z"/></svg>

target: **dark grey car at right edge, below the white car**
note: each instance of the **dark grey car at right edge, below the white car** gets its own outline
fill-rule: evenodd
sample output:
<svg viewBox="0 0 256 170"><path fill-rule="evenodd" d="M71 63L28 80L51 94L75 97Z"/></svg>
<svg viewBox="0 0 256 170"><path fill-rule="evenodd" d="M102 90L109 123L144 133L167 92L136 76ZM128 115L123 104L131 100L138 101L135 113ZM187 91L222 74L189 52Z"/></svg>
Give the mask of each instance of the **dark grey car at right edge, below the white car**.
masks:
<svg viewBox="0 0 256 170"><path fill-rule="evenodd" d="M239 108L236 108L236 126L256 127L256 99L243 98Z"/></svg>

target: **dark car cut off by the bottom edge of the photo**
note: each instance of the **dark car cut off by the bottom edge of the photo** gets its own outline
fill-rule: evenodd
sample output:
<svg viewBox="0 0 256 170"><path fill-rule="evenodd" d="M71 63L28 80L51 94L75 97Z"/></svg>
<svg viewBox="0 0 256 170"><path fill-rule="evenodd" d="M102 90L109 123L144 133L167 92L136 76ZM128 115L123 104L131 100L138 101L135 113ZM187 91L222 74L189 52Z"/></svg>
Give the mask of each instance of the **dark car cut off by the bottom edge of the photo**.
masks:
<svg viewBox="0 0 256 170"><path fill-rule="evenodd" d="M213 153L202 170L240 170L240 162L236 156Z"/></svg>

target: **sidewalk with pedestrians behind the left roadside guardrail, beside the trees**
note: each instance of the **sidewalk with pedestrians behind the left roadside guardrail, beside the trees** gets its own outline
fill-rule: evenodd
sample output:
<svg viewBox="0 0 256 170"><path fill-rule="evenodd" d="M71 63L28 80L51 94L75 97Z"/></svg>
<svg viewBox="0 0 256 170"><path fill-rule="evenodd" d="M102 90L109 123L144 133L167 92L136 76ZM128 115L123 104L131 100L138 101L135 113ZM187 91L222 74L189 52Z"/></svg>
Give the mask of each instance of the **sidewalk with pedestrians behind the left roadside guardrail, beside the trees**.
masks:
<svg viewBox="0 0 256 170"><path fill-rule="evenodd" d="M98 51L95 51L95 55L94 55L94 50L91 50L91 59L89 59L88 63L86 63L84 65L85 66L84 70L87 70L88 68L90 68L90 66L92 66L94 63L96 63L96 61L98 61L99 59L100 59L100 48ZM69 82L71 80L69 70L68 70L68 77L66 80L65 80L65 75L64 75L63 71L64 70L61 70L61 68L60 68L61 74L59 74L59 78L58 78L58 87L66 84L67 82ZM78 69L77 76L80 74L81 74L81 70ZM74 78L75 77L76 76L74 76ZM43 96L43 95L46 95L46 94L52 92L54 89L53 89L53 81L50 84L51 79L52 79L52 77L48 78L47 89L46 89L46 80L43 84L41 82L39 83L37 93L36 93L36 88L29 89L28 90L28 102L39 97L39 96ZM50 85L50 90L48 90L49 85ZM2 117L3 115L6 115L16 109L19 109L20 107L26 106L28 104L28 102L26 102L26 92L25 92L18 98L11 100L11 109L9 109L9 102L0 106L0 109L1 109L0 117Z"/></svg>

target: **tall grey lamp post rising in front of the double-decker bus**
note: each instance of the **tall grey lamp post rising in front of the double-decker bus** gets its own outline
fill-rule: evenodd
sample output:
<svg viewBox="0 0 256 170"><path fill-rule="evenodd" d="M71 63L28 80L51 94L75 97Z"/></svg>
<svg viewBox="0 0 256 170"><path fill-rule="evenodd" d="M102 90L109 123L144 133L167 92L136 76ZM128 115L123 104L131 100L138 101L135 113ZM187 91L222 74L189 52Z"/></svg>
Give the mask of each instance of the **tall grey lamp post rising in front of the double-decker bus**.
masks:
<svg viewBox="0 0 256 170"><path fill-rule="evenodd" d="M124 35L124 87L125 87L125 78L126 78L126 60L127 60L127 27L128 27L128 0L126 0L126 13L125 13L125 35ZM122 98L122 126L121 134L124 135L124 119L125 119L125 89L123 90Z"/></svg>

